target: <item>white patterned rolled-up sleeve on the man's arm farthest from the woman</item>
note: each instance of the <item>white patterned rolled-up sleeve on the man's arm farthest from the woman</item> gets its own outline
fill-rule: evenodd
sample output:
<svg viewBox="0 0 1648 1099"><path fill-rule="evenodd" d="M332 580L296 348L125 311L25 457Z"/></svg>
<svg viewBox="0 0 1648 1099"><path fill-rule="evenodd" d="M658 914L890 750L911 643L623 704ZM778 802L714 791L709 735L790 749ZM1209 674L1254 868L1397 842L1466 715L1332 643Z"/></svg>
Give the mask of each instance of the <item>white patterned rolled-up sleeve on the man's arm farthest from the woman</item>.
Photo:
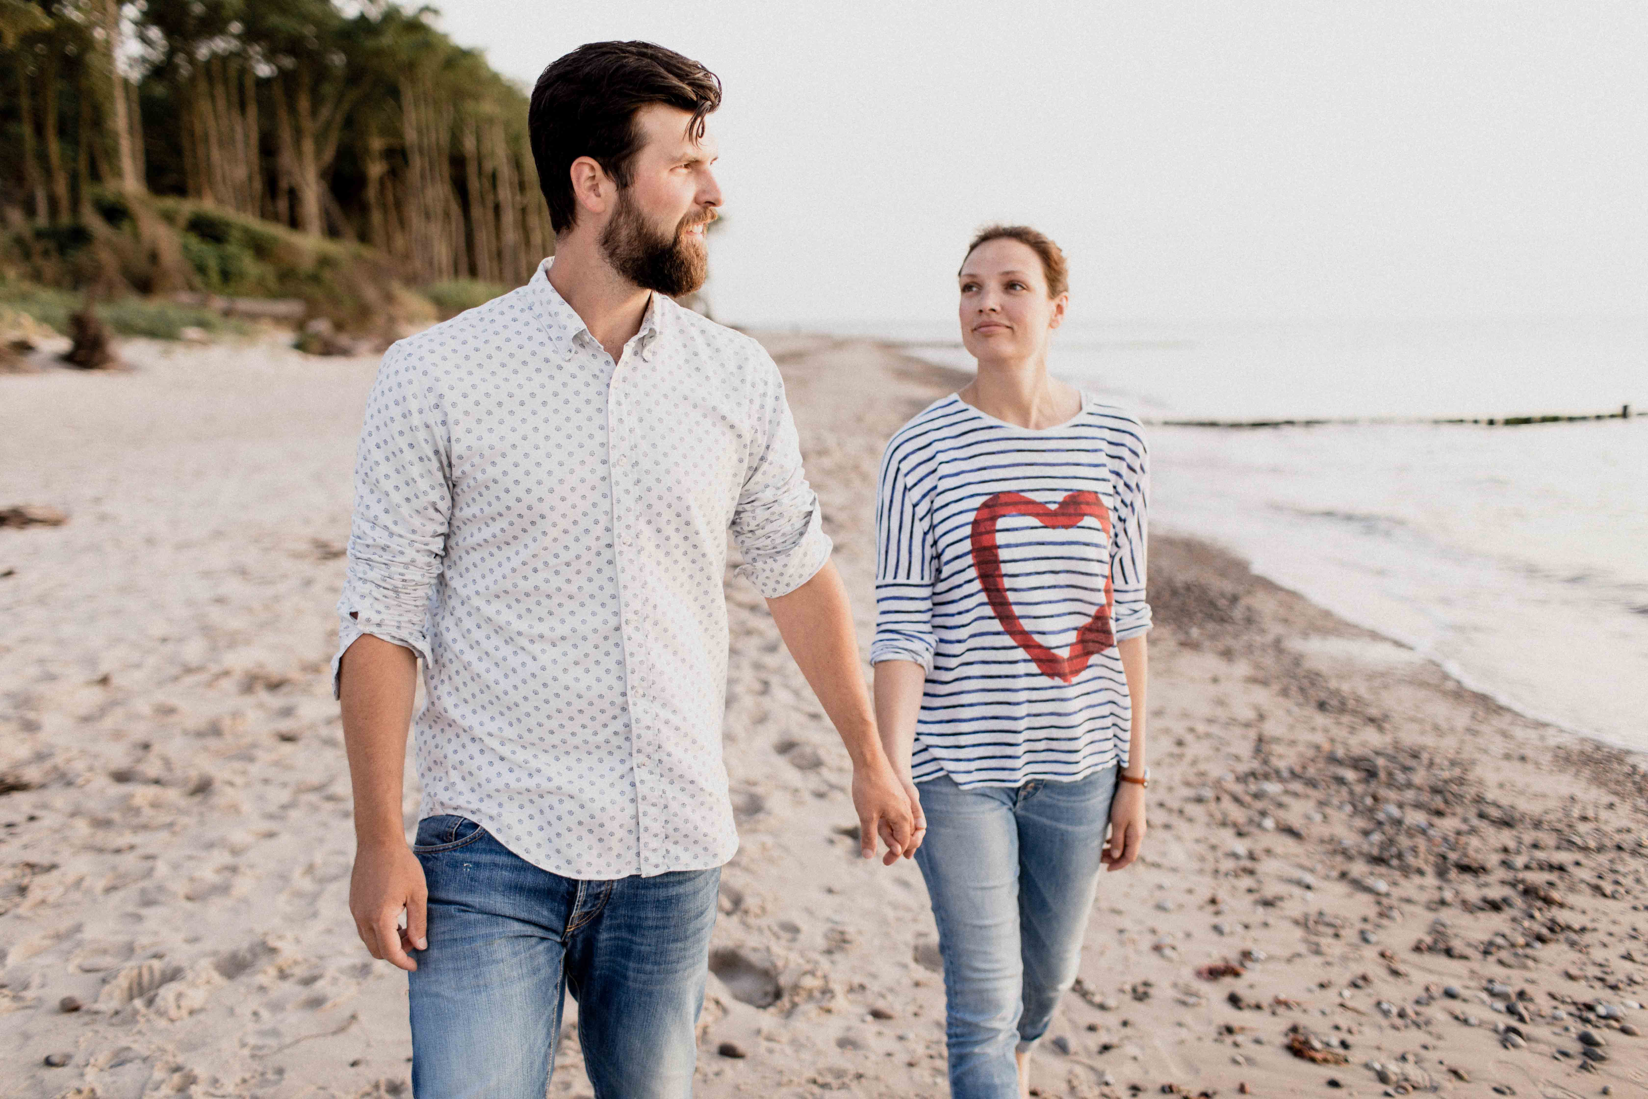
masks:
<svg viewBox="0 0 1648 1099"><path fill-rule="evenodd" d="M361 634L404 646L428 662L428 596L452 517L450 447L440 389L392 346L366 400L354 463L354 519L338 600L338 667Z"/></svg>

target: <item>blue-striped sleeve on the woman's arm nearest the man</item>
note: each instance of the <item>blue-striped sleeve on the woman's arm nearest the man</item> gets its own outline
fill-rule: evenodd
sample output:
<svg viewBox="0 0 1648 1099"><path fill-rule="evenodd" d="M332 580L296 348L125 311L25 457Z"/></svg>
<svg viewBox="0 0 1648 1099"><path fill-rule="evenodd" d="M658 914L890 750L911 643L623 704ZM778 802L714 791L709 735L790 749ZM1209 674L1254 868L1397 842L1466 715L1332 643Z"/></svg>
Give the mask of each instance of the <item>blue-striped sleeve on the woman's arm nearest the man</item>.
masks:
<svg viewBox="0 0 1648 1099"><path fill-rule="evenodd" d="M933 524L905 475L900 442L882 456L875 504L875 641L870 662L910 661L933 671Z"/></svg>

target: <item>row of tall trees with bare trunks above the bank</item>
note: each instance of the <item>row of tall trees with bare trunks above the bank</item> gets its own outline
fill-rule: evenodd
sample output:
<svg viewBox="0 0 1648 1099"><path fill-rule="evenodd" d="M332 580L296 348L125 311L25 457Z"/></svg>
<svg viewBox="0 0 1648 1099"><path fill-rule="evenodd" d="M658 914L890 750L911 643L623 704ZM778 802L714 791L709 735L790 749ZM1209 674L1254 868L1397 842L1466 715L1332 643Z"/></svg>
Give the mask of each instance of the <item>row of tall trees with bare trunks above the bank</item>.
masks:
<svg viewBox="0 0 1648 1099"><path fill-rule="evenodd" d="M554 249L526 94L389 0L0 0L0 219L176 196L359 241L410 283Z"/></svg>

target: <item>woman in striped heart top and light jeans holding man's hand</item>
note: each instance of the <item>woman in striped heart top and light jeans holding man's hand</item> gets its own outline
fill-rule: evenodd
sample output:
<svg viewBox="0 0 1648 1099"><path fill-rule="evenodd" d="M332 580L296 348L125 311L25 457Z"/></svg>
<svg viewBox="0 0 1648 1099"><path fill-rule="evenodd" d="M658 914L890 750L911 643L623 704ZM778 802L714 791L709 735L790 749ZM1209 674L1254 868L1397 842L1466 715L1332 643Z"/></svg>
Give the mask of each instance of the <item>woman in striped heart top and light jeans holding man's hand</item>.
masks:
<svg viewBox="0 0 1648 1099"><path fill-rule="evenodd" d="M1135 419L1048 377L1058 246L992 226L959 280L979 374L887 445L870 659L926 817L951 1094L1002 1099L1144 840L1147 475Z"/></svg>

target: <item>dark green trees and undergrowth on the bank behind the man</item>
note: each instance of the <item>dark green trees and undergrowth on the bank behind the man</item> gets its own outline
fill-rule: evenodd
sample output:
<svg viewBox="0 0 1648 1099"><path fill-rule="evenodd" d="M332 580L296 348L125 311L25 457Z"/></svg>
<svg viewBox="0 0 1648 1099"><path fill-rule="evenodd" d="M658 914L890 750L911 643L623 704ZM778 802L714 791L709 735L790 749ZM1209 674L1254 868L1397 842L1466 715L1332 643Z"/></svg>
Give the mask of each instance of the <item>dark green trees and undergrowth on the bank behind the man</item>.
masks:
<svg viewBox="0 0 1648 1099"><path fill-rule="evenodd" d="M432 313L397 280L433 282L450 315L552 250L526 91L453 43L432 8L119 10L110 35L94 18L107 8L84 0L0 0L0 280L110 302L293 297L376 333ZM115 56L135 84L125 129ZM135 180L120 171L127 130Z"/></svg>

